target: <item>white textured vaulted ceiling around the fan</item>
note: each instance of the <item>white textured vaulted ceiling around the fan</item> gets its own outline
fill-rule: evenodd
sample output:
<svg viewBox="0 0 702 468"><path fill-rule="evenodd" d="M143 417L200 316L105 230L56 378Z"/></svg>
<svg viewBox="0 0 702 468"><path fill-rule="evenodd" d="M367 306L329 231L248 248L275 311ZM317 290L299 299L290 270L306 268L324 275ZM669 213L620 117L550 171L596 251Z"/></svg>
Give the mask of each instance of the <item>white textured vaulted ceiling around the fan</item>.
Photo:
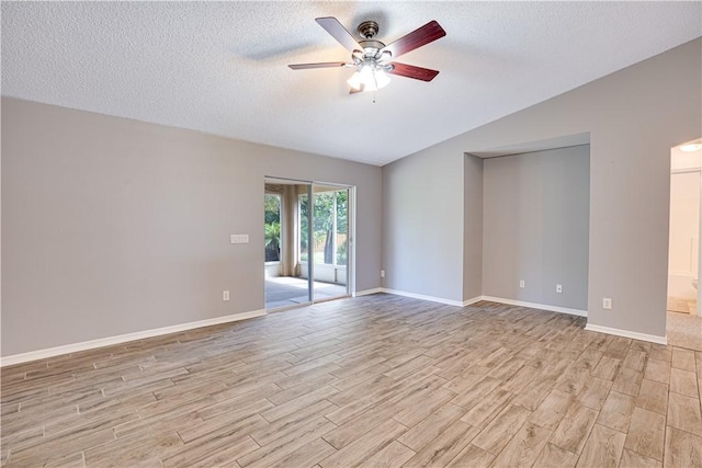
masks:
<svg viewBox="0 0 702 468"><path fill-rule="evenodd" d="M349 95L314 20L440 70ZM702 2L2 2L2 94L384 164L702 35Z"/></svg>

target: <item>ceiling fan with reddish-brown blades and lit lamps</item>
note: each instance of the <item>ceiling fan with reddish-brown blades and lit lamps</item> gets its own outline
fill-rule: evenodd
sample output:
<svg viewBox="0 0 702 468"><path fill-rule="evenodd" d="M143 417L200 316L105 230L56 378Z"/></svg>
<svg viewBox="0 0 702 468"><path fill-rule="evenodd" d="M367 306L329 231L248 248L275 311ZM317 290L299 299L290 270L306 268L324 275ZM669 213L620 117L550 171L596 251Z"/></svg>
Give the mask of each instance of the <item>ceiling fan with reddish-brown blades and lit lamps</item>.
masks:
<svg viewBox="0 0 702 468"><path fill-rule="evenodd" d="M439 75L438 70L390 61L403 54L445 36L446 32L435 21L430 21L389 45L385 45L374 38L378 32L378 25L375 21L364 21L359 24L356 31L361 36L361 41L356 41L333 16L317 18L315 21L331 34L339 44L351 52L351 61L288 65L293 70L337 67L355 68L355 72L348 80L349 85L351 85L351 93L375 91L386 87L390 81L387 73L421 81L431 81Z"/></svg>

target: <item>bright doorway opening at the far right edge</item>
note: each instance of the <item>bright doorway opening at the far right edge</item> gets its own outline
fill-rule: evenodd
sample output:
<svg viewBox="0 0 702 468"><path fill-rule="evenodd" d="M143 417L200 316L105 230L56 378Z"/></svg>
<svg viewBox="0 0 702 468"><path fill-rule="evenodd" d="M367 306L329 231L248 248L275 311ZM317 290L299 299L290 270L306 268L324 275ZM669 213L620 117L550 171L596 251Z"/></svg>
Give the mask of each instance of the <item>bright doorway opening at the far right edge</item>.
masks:
<svg viewBox="0 0 702 468"><path fill-rule="evenodd" d="M670 151L668 343L702 351L702 139Z"/></svg>

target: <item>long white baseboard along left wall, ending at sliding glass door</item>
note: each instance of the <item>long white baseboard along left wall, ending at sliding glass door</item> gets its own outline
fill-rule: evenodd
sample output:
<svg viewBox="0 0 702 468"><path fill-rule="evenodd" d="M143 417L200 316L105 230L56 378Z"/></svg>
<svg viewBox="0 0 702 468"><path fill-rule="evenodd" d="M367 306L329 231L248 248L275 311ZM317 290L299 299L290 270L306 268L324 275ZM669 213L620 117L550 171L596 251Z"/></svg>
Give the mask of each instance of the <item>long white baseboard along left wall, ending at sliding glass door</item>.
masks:
<svg viewBox="0 0 702 468"><path fill-rule="evenodd" d="M134 333L120 334L116 336L101 338L98 340L83 341L81 343L65 344L63 346L47 347L45 350L31 351L29 353L13 354L0 357L0 367L13 364L22 364L30 361L44 359L46 357L59 356L61 354L77 353L79 351L93 350L95 347L110 346L113 344L126 343L129 341L143 340L145 338L160 336L163 334L177 333L202 327L217 326L220 323L236 322L238 320L262 317L265 310L253 310L251 312L234 313L231 316L215 317L214 319L199 320L196 322L181 323L177 326L163 327L152 330L137 331Z"/></svg>

